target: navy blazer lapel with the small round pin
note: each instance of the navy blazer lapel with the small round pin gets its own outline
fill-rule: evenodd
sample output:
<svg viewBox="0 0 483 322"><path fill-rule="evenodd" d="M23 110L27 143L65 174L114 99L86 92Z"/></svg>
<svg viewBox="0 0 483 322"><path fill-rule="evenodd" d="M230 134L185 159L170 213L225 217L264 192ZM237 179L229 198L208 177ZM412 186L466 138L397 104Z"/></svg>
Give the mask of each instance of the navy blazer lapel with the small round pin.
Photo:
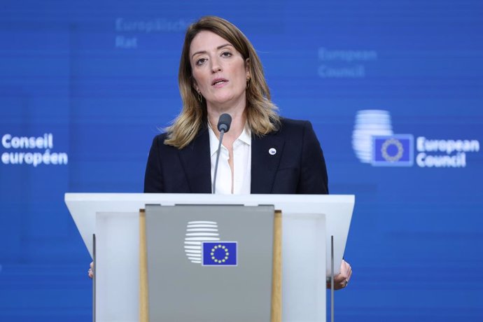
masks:
<svg viewBox="0 0 483 322"><path fill-rule="evenodd" d="M285 141L276 134L251 139L251 193L272 193ZM274 149L274 150L272 150Z"/></svg>

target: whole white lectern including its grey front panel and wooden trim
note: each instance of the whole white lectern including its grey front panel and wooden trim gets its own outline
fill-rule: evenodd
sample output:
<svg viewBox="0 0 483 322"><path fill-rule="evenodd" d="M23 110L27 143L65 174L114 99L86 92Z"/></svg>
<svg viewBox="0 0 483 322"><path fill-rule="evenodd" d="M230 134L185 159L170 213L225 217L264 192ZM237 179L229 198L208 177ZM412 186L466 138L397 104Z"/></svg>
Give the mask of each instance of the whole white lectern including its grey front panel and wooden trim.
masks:
<svg viewBox="0 0 483 322"><path fill-rule="evenodd" d="M270 307L274 300L269 297L276 292L271 287L275 265L273 258L264 255L274 246L276 211L281 212L279 321L325 321L326 276L332 264L338 273L354 196L67 193L65 202L90 254L95 250L95 321L140 321L150 311L165 316L165 321L246 321L243 312L250 311L250 305L266 321L276 321ZM148 218L159 216L162 221L148 219L146 224L144 209ZM203 209L208 211L203 213ZM239 231L235 209L241 211ZM257 215L260 209L265 213ZM225 217L235 221L225 222ZM271 227L265 233L267 225ZM139 251L146 240L160 246L148 244L147 269ZM140 292L144 283L140 269L148 271L148 289L152 288L146 290L151 305L147 309L142 287ZM250 274L260 281L246 277ZM260 289L254 291L251 286L255 285ZM174 290L176 294L169 293ZM255 293L260 301L244 300ZM221 297L217 300L216 296ZM174 304L179 305L175 308ZM230 308L232 315L226 316L223 307Z"/></svg>

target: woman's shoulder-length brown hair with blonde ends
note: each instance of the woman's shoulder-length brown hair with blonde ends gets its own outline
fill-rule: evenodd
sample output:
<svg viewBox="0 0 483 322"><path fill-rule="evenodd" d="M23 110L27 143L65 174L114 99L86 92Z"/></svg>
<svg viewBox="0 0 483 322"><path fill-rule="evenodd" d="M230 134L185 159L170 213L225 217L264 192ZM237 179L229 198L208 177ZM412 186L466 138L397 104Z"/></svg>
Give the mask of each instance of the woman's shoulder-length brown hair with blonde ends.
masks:
<svg viewBox="0 0 483 322"><path fill-rule="evenodd" d="M206 16L188 27L183 52L179 62L179 92L183 99L183 109L173 124L166 128L165 144L184 148L195 139L202 126L207 123L207 103L198 100L193 87L190 63L190 45L200 31L211 31L229 41L246 61L250 80L246 88L246 120L252 134L263 136L276 131L280 125L278 109L270 101L270 91L263 73L262 63L248 38L232 23L223 18Z"/></svg>

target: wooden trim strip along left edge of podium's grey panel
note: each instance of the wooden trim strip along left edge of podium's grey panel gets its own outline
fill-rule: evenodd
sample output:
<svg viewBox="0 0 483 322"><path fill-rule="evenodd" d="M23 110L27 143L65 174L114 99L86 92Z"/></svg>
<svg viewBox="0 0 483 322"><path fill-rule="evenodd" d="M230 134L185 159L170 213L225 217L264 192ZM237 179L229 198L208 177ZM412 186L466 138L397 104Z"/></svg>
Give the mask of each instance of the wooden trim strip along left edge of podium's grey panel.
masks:
<svg viewBox="0 0 483 322"><path fill-rule="evenodd" d="M139 322L149 321L146 212L139 209Z"/></svg>

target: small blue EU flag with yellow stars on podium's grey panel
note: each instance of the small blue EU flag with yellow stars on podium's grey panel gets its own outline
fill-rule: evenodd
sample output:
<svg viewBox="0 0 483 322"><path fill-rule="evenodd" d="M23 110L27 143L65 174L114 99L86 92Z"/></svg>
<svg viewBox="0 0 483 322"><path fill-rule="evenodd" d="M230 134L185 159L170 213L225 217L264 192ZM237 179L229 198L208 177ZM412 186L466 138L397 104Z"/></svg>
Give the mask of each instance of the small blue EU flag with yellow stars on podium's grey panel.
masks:
<svg viewBox="0 0 483 322"><path fill-rule="evenodd" d="M204 241L203 266L237 266L237 241Z"/></svg>

